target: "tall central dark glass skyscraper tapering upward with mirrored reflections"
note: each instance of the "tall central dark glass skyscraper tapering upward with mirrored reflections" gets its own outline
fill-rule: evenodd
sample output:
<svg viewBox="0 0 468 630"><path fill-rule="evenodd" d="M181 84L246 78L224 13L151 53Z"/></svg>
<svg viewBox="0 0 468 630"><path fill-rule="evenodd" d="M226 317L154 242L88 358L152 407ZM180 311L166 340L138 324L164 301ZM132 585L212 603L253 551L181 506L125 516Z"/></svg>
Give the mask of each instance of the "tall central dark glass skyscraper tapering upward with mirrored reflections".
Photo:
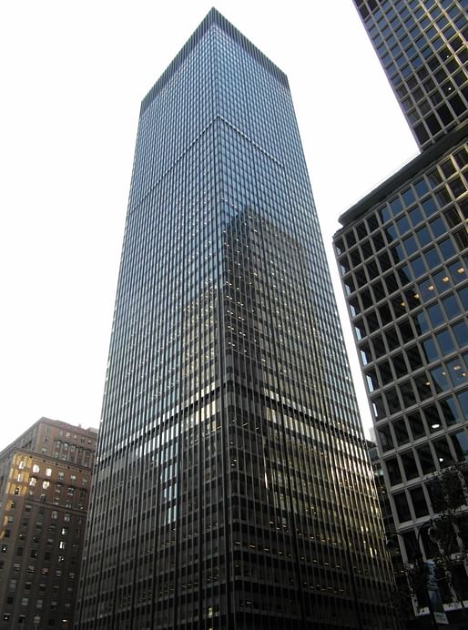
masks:
<svg viewBox="0 0 468 630"><path fill-rule="evenodd" d="M212 10L143 100L78 627L392 628L286 76Z"/></svg>

